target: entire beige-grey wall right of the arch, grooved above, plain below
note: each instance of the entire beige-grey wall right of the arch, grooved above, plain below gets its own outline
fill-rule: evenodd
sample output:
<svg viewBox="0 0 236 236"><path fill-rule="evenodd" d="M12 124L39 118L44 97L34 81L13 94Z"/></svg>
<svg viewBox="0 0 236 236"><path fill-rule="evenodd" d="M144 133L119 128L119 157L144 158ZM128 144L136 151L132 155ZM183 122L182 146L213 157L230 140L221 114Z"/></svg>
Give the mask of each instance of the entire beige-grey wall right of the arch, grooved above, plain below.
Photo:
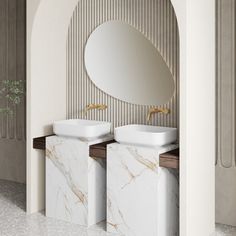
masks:
<svg viewBox="0 0 236 236"><path fill-rule="evenodd" d="M217 1L216 221L236 226L235 0Z"/></svg>

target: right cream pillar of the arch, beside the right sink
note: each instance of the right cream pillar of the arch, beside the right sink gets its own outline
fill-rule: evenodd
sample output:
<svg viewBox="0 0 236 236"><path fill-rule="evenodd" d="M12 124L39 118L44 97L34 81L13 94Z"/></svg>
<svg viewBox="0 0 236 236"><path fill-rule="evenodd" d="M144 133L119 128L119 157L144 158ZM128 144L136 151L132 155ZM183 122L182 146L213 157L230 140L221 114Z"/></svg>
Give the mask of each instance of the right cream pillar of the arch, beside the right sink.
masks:
<svg viewBox="0 0 236 236"><path fill-rule="evenodd" d="M215 1L172 4L180 34L180 235L215 235Z"/></svg>

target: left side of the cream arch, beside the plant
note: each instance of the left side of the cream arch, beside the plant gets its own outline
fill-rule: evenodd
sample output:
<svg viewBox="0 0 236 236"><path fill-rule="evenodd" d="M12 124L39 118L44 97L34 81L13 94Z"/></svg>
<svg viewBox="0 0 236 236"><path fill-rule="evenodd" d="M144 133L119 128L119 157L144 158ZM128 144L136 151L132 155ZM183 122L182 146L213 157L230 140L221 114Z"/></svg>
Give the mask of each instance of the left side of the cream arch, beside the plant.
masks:
<svg viewBox="0 0 236 236"><path fill-rule="evenodd" d="M27 212L44 209L44 152L34 137L52 133L66 118L66 38L77 0L28 0Z"/></svg>

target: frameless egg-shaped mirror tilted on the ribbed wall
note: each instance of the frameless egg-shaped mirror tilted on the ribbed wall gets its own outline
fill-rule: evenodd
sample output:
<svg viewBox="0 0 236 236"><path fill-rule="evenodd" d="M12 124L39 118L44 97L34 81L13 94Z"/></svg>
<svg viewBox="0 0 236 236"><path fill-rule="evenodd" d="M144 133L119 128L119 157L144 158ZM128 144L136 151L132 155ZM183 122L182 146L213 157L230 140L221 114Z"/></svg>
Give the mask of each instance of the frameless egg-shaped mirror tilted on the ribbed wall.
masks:
<svg viewBox="0 0 236 236"><path fill-rule="evenodd" d="M139 105L162 105L174 94L173 76L154 45L121 21L97 27L85 47L85 67L110 96Z"/></svg>

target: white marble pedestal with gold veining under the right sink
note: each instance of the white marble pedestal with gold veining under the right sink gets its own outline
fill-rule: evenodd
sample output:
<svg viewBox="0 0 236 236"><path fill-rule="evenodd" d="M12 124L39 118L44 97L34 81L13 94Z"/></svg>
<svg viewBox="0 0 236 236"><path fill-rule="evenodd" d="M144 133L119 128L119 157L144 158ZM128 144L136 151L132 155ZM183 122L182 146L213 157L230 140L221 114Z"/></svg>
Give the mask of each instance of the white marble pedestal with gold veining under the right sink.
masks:
<svg viewBox="0 0 236 236"><path fill-rule="evenodd" d="M159 167L160 148L110 144L107 157L107 231L125 236L178 236L176 171Z"/></svg>

